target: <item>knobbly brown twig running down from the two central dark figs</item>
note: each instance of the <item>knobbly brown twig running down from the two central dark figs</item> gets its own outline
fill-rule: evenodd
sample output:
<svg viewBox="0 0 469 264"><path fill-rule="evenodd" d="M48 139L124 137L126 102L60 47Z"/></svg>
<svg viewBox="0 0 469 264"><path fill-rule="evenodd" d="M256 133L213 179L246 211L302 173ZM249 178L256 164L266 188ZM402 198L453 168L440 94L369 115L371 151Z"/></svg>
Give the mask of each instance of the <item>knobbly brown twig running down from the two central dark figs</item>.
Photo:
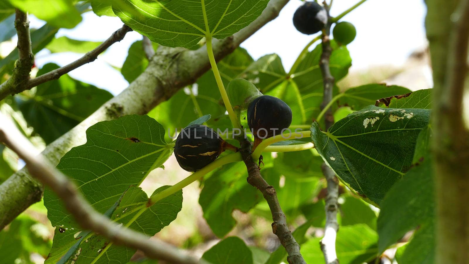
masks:
<svg viewBox="0 0 469 264"><path fill-rule="evenodd" d="M287 261L290 264L306 264L300 253L300 245L296 242L287 226L287 217L280 207L277 193L273 186L269 185L259 171L259 167L251 156L251 143L244 138L239 138L241 143L241 156L248 169L248 183L262 192L272 212L272 232L277 235L282 246L287 250Z"/></svg>

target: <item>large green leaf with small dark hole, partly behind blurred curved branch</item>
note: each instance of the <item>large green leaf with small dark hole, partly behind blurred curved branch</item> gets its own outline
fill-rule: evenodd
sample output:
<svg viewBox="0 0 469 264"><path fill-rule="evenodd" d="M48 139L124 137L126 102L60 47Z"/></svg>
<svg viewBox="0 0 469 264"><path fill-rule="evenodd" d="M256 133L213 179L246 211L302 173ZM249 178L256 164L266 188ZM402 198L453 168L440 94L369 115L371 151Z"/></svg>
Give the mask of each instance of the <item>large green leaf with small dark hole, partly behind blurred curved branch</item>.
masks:
<svg viewBox="0 0 469 264"><path fill-rule="evenodd" d="M146 115L102 121L88 128L86 134L87 142L68 151L57 168L101 213L108 211L129 186L138 186L172 152L171 145L164 141L163 126ZM44 204L49 220L56 226L50 254L54 259L76 242L74 234L80 227L50 189L45 189Z"/></svg>

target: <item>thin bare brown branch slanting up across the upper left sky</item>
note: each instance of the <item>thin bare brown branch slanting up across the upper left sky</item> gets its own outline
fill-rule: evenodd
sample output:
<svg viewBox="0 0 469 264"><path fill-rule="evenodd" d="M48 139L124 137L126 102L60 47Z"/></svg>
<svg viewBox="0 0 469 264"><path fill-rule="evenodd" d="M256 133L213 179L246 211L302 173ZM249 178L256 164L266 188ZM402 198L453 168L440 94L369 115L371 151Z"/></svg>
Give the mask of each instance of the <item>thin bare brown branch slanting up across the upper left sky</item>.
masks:
<svg viewBox="0 0 469 264"><path fill-rule="evenodd" d="M99 54L103 53L108 47L110 47L114 43L116 43L118 41L121 41L124 38L125 34L127 34L127 32L129 32L129 31L132 31L132 29L129 28L127 25L123 25L121 29L114 31L114 33L111 35L111 37L107 38L103 43L101 43L94 50L86 53L80 59L75 60L74 62L69 63L69 64L65 65L64 67L55 69L53 71L50 71L46 74L40 75L40 76L38 76L36 78L33 78L33 79L29 79L29 78L24 79L23 78L23 79L21 79L21 80L23 80L23 83L22 83L21 80L17 80L17 79L13 79L13 78L8 79L7 82L0 85L0 100L2 100L3 98L7 97L10 94L13 95L13 94L16 94L16 93L20 93L22 91L29 90L33 87L36 87L41 83L45 83L45 82L48 82L48 81L51 81L51 80L54 80L54 79L59 79L60 76L62 76L64 74L67 74L68 72L70 72L70 71L72 71L72 70L74 70L74 69L76 69L80 66L83 66L84 64L87 64L87 63L90 63L91 61L96 60L98 58ZM28 33L28 36L29 36L29 33ZM29 41L30 41L30 39L29 39ZM20 51L20 60L19 61L21 61L21 48L20 48L19 43L20 43L20 38L19 38L19 34L18 34L18 50ZM34 56L32 55L30 47L29 47L29 49L30 49L30 56L32 56L32 58L34 58ZM18 61L18 63L19 63L19 61ZM34 59L32 59L32 62L34 63ZM31 64L31 66L32 66L32 64ZM31 67L29 69L31 69ZM28 76L29 76L29 72L28 72ZM26 81L24 81L24 80L26 80Z"/></svg>

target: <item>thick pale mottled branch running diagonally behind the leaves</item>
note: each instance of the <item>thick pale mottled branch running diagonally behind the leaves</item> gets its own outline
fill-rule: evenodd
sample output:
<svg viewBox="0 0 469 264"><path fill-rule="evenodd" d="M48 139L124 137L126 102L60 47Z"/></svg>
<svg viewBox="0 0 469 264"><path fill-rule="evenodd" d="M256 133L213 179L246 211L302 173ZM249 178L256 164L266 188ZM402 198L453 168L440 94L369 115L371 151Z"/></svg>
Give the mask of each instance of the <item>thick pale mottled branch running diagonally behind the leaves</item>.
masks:
<svg viewBox="0 0 469 264"><path fill-rule="evenodd" d="M263 25L279 15L288 0L271 0L253 23L230 38L214 41L215 59L221 60L234 51ZM194 83L210 69L206 47L195 51L159 47L145 71L118 96L110 99L75 128L49 144L42 154L53 165L72 147L86 142L85 130L99 121L116 119L126 114L145 114L170 98L182 87ZM0 185L0 229L31 204L40 201L42 185L26 170L13 174Z"/></svg>

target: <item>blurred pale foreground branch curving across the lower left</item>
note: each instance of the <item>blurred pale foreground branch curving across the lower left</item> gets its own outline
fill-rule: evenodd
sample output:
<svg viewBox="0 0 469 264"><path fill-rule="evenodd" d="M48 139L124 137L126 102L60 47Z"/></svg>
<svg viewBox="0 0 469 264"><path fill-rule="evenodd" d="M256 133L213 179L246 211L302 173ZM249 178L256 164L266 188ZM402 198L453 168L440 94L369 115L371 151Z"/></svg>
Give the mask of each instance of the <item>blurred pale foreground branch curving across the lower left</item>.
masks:
<svg viewBox="0 0 469 264"><path fill-rule="evenodd" d="M92 230L103 235L115 244L142 250L152 259L162 259L169 263L202 263L197 258L182 253L179 249L156 239L117 225L95 211L76 189L75 184L55 169L41 155L35 155L35 148L3 114L0 114L0 141L16 152L26 162L34 177L53 189L62 199L67 210L73 214L83 230Z"/></svg>

